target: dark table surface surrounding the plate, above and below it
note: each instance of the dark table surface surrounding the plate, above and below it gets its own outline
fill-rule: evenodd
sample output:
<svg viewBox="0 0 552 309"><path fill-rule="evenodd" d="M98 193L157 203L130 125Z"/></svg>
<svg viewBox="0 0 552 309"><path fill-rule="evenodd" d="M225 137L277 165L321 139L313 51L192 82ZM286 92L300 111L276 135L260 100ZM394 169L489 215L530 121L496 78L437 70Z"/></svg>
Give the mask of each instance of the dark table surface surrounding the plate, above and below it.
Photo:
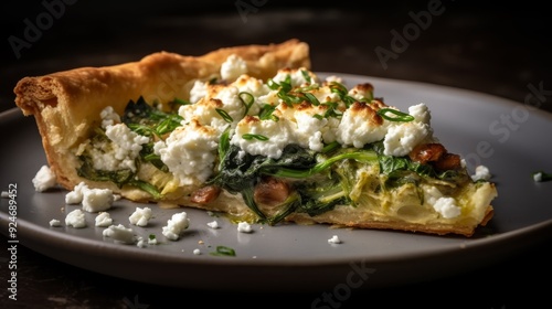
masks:
<svg viewBox="0 0 552 309"><path fill-rule="evenodd" d="M12 89L24 76L136 61L161 50L199 55L223 46L290 38L309 43L315 71L426 82L520 104L528 104L532 85L544 98L539 107L552 111L552 28L538 2L395 1L368 2L362 6L367 8L268 0L136 2L3 1L0 111L14 107ZM418 20L417 31L406 33L405 44L393 41L395 31L404 34L421 12L431 12L431 19ZM30 24L40 25L39 31L31 33ZM376 52L382 49L394 51L393 56L383 61ZM0 243L6 244L7 237L0 234ZM421 278L415 285L359 289L326 307L312 306L323 291L181 290L95 274L20 246L17 301L8 299L8 255L0 251L0 308L169 308L198 302L255 308L380 303L432 308L524 303L527 308L532 301L548 307L552 302L551 245L552 235L474 271L438 280Z"/></svg>

